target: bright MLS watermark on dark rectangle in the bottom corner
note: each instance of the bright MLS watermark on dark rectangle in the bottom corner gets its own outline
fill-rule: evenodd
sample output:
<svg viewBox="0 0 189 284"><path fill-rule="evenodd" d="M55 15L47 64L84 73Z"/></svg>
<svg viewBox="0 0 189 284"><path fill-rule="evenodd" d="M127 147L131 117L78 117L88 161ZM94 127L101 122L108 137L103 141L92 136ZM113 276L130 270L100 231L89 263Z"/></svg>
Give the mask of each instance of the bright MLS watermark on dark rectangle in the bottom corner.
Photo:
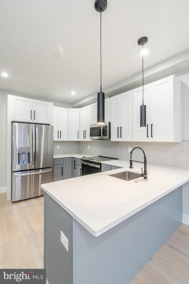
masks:
<svg viewBox="0 0 189 284"><path fill-rule="evenodd" d="M46 284L46 269L0 269L0 283Z"/></svg>

